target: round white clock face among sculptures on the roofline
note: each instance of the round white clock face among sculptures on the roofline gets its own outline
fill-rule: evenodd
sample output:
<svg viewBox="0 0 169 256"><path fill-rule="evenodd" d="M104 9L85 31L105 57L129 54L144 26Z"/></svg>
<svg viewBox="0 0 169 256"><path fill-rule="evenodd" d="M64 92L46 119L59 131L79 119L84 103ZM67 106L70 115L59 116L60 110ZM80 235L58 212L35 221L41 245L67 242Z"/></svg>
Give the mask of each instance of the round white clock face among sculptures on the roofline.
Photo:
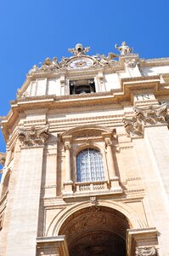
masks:
<svg viewBox="0 0 169 256"><path fill-rule="evenodd" d="M93 60L89 58L78 58L70 61L68 65L70 68L73 68L73 69L82 69L82 68L91 67L93 65Z"/></svg>

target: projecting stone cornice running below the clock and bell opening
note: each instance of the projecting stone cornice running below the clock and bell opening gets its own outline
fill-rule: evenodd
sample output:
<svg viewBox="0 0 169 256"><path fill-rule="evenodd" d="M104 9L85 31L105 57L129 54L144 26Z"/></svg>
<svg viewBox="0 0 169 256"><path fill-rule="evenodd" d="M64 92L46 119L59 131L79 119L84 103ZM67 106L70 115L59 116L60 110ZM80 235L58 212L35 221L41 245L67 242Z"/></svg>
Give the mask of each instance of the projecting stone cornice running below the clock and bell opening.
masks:
<svg viewBox="0 0 169 256"><path fill-rule="evenodd" d="M20 113L26 110L36 109L60 109L60 111L70 111L70 109L87 111L87 109L115 109L122 108L124 102L132 102L134 91L149 90L155 96L169 95L169 90L164 88L164 84L160 83L160 75L150 77L137 77L121 79L121 90L110 90L107 92L97 92L86 95L67 95L67 96L32 96L18 97L11 102L11 110L6 117L2 119L3 134L8 139L8 134L16 120L20 117ZM122 103L123 102L123 103ZM132 103L133 104L133 103Z"/></svg>

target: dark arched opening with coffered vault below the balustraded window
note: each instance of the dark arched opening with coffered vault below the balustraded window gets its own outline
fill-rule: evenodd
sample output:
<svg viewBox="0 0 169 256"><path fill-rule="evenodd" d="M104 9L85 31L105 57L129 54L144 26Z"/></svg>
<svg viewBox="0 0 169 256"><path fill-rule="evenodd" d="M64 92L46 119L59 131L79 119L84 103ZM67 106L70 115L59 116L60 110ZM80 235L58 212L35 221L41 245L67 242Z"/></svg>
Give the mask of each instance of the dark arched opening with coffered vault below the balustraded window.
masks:
<svg viewBox="0 0 169 256"><path fill-rule="evenodd" d="M109 207L86 207L74 212L62 224L70 256L125 256L127 218Z"/></svg>

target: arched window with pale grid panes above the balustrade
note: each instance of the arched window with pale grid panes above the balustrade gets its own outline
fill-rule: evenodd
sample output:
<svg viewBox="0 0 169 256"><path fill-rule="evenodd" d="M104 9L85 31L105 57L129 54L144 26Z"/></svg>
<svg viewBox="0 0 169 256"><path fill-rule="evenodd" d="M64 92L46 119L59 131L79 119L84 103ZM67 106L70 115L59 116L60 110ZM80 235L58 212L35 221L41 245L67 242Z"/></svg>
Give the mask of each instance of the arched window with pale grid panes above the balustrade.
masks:
<svg viewBox="0 0 169 256"><path fill-rule="evenodd" d="M93 148L82 150L76 156L77 182L104 180L102 155Z"/></svg>

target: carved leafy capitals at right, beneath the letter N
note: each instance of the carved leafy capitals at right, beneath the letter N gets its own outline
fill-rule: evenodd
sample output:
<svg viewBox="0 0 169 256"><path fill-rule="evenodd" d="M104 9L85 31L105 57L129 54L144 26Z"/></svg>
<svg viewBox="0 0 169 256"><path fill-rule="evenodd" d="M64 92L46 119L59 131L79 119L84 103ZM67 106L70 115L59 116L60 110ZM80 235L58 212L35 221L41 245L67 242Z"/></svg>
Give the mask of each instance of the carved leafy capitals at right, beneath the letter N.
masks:
<svg viewBox="0 0 169 256"><path fill-rule="evenodd" d="M140 137L144 134L144 126L166 124L169 117L166 105L149 105L146 108L134 108L135 116L132 119L123 119L127 135Z"/></svg>

